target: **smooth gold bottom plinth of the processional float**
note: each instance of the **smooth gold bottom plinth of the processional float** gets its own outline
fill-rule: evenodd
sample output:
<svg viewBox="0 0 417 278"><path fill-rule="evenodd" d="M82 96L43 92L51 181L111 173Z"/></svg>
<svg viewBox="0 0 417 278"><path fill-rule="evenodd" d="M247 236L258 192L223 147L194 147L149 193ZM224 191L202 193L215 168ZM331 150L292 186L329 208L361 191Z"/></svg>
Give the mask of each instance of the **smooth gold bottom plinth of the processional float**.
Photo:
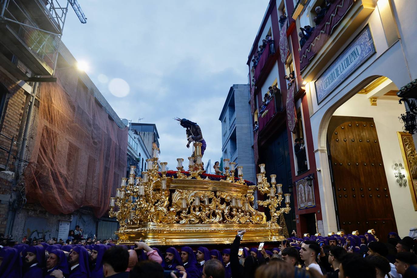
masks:
<svg viewBox="0 0 417 278"><path fill-rule="evenodd" d="M119 230L118 243L144 240L150 245L229 244L238 230L246 230L242 243L284 240L279 225L264 224L160 224L131 225Z"/></svg>

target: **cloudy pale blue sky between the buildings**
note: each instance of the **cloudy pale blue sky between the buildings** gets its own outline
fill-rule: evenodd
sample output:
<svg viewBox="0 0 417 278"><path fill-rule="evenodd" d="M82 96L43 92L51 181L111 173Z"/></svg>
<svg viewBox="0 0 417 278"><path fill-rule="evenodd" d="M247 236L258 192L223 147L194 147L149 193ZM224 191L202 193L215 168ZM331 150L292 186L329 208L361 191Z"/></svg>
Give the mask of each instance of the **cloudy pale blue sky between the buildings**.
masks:
<svg viewBox="0 0 417 278"><path fill-rule="evenodd" d="M221 109L231 85L248 83L247 57L269 1L78 2L87 24L69 10L63 42L118 116L155 123L171 169L191 155L174 117L200 125L205 164L219 160Z"/></svg>

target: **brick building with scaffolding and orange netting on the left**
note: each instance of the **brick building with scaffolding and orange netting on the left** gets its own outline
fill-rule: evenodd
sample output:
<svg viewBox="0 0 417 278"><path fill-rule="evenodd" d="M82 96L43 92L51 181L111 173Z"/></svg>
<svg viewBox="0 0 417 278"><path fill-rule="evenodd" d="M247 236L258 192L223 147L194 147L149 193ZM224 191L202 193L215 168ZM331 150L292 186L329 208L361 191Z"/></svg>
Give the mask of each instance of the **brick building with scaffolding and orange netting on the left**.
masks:
<svg viewBox="0 0 417 278"><path fill-rule="evenodd" d="M65 224L114 237L106 212L125 173L128 130L76 69L60 42L68 9L59 17L53 4L1 2L0 233L57 238Z"/></svg>

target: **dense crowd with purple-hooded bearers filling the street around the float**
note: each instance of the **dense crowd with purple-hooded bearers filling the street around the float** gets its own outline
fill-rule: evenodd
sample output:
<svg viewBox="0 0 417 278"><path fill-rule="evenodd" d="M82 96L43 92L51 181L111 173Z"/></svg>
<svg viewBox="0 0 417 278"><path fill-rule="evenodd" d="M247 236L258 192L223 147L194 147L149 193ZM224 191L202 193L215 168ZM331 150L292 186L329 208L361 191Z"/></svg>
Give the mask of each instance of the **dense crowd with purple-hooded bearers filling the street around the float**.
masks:
<svg viewBox="0 0 417 278"><path fill-rule="evenodd" d="M242 247L245 232L237 232L221 251L205 246L151 248L143 241L130 246L95 239L75 244L8 240L0 250L0 278L417 277L413 238L401 239L394 232L384 243L372 233L304 234L266 248Z"/></svg>

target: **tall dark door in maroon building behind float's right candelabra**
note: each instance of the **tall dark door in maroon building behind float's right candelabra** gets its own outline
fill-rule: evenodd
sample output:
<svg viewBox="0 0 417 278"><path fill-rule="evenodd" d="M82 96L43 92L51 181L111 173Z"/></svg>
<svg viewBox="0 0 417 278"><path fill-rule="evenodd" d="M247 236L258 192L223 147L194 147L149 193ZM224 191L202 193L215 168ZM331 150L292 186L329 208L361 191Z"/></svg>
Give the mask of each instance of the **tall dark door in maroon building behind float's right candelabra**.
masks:
<svg viewBox="0 0 417 278"><path fill-rule="evenodd" d="M289 234L296 230L294 196L292 192L291 164L289 160L288 135L286 130L276 133L272 140L267 141L259 148L259 161L265 163L266 177L270 181L269 175L276 175L276 182L282 184L283 193L291 193L291 210L288 214L284 213L285 223ZM281 206L285 205L284 202ZM269 210L265 210L267 219L270 218Z"/></svg>

